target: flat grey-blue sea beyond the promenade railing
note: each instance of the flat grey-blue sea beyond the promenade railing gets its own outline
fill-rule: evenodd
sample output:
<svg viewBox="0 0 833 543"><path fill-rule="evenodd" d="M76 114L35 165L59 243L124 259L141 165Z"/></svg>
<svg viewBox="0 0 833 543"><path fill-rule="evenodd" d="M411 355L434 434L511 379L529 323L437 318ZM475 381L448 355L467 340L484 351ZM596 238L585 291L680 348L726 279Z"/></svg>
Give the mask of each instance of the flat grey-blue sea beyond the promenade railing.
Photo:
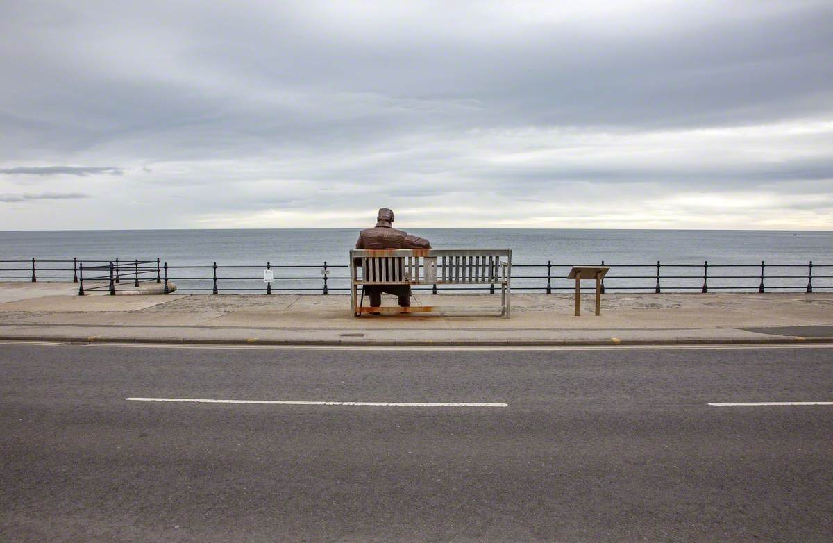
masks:
<svg viewBox="0 0 833 543"><path fill-rule="evenodd" d="M570 291L572 265L611 266L606 291L757 291L766 262L767 291L833 290L833 232L737 230L581 230L410 228L435 248L510 248L513 290ZM0 281L27 280L32 257L41 281L72 278L72 262L94 266L119 259L120 278L132 281L132 262L159 261L179 291L210 292L216 262L220 292L347 292L347 251L357 229L85 230L0 232ZM29 261L28 263L7 261ZM93 262L101 261L101 262ZM125 262L129 262L125 264ZM324 271L325 262L327 271ZM547 263L550 266L547 267ZM704 267L708 262L709 266ZM229 268L229 266L237 266ZM142 278L152 276L142 264ZM547 281L549 273L550 280ZM589 286L589 285L588 285ZM442 290L442 287L440 287Z"/></svg>

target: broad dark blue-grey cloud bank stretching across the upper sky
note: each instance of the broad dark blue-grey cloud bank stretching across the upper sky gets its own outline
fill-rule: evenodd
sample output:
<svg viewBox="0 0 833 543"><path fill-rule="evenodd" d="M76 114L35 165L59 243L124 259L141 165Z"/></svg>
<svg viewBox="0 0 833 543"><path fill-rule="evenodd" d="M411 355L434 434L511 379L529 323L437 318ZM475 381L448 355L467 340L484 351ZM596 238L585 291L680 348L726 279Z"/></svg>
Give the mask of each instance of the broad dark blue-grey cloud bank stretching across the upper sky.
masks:
<svg viewBox="0 0 833 543"><path fill-rule="evenodd" d="M62 126L48 138L37 125L21 128L32 143L68 151L127 138L155 157L332 148L467 127L692 127L831 113L833 8L776 5L751 4L744 17L715 8L686 22L684 3L666 32L541 22L475 37L430 12L359 33L349 23L328 27L314 6L243 13L222 2L197 12L160 5L159 20L131 7L109 15L80 7L74 18L100 25L97 40L131 47L119 39L126 32L135 48L117 52L140 67L156 61L158 72L114 76L114 59L107 48L93 52L82 22L37 27L66 46L45 50L24 32L20 13L3 23L20 37L7 46L18 54L0 62L24 75L8 83L27 91L13 103L16 115ZM32 57L50 68L42 72L52 84L22 66Z"/></svg>

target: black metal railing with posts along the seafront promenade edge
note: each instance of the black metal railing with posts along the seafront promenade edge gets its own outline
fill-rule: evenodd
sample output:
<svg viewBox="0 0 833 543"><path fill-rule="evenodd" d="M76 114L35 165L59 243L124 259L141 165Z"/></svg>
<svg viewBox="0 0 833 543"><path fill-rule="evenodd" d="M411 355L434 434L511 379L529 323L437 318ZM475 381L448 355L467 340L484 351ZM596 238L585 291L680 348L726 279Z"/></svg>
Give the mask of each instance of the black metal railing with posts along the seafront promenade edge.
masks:
<svg viewBox="0 0 833 543"><path fill-rule="evenodd" d="M606 264L611 270L602 281L603 291L640 292L710 292L710 291L831 291L833 264ZM11 266L11 267L7 267ZM573 291L575 284L566 279L571 264L513 264L513 291L540 291L551 294ZM257 273L252 273L257 270ZM264 283L262 271L274 274L273 283ZM314 271L314 272L313 272ZM7 275L10 273L11 275ZM234 264L204 266L173 266L157 258L112 261L72 258L72 260L36 259L0 260L0 281L25 280L79 282L78 293L86 291L129 290L144 282L164 282L162 290L169 293L168 281L182 292L331 292L350 290L349 267L332 265ZM86 283L86 286L85 286ZM131 285L132 283L132 285ZM587 286L592 290L595 286ZM491 286L415 286L414 291L488 291Z"/></svg>

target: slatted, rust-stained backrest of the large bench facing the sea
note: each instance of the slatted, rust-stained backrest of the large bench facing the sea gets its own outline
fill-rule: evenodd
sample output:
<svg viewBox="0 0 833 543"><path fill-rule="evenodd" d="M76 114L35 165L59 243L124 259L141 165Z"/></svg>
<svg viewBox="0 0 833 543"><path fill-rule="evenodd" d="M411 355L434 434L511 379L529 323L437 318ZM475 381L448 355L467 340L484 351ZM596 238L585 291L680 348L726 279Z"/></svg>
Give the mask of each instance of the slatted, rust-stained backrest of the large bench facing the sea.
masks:
<svg viewBox="0 0 833 543"><path fill-rule="evenodd" d="M353 249L354 284L499 284L511 278L511 249Z"/></svg>

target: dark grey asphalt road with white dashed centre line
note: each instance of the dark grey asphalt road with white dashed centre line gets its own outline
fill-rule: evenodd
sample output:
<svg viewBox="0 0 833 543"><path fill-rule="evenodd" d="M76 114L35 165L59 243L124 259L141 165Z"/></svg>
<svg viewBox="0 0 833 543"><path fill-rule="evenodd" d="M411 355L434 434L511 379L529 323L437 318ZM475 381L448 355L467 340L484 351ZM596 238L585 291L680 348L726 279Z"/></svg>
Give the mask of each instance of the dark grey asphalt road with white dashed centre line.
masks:
<svg viewBox="0 0 833 543"><path fill-rule="evenodd" d="M0 345L2 541L830 541L833 349ZM506 407L127 401L486 402Z"/></svg>

